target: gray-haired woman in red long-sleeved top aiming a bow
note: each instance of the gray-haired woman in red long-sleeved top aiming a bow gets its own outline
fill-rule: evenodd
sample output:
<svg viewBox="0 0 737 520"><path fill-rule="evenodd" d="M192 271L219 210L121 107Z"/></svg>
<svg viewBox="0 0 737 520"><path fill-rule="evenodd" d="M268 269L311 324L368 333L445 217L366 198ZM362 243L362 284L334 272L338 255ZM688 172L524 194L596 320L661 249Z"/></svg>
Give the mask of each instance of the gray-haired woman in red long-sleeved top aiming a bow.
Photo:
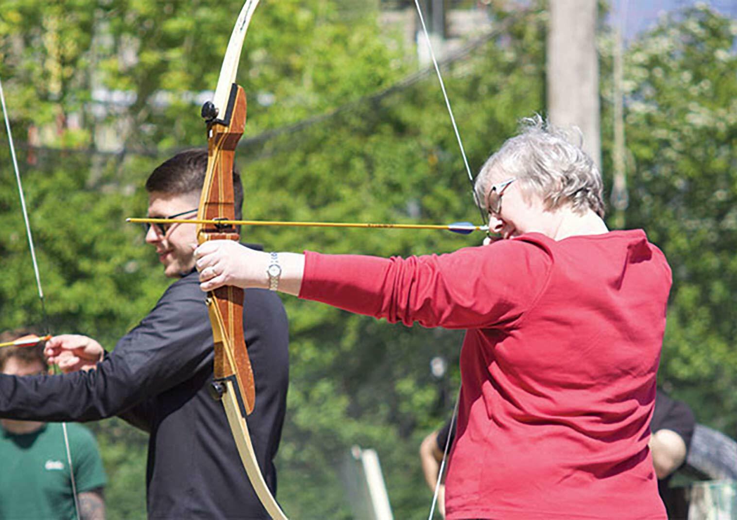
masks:
<svg viewBox="0 0 737 520"><path fill-rule="evenodd" d="M665 519L648 440L666 258L640 229L609 232L597 168L539 117L475 188L506 240L406 259L207 242L201 288L465 329L448 519Z"/></svg>

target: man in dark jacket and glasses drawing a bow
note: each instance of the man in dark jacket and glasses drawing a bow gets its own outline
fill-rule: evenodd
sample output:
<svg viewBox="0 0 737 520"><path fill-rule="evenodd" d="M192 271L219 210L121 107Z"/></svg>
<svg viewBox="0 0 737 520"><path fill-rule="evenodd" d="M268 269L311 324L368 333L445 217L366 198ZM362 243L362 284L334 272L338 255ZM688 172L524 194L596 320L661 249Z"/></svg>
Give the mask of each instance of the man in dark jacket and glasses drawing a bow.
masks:
<svg viewBox="0 0 737 520"><path fill-rule="evenodd" d="M206 164L205 150L189 150L156 168L146 184L149 216L194 217ZM234 187L240 212L237 172ZM119 415L150 434L150 519L268 519L240 462L223 406L209 395L213 339L192 257L195 224L149 226L146 242L156 248L164 274L178 278L156 307L109 354L86 336L49 340L46 355L68 373L0 376L0 417L87 421ZM273 458L288 382L287 316L272 291L248 289L243 322L256 383L248 429L275 493Z"/></svg>

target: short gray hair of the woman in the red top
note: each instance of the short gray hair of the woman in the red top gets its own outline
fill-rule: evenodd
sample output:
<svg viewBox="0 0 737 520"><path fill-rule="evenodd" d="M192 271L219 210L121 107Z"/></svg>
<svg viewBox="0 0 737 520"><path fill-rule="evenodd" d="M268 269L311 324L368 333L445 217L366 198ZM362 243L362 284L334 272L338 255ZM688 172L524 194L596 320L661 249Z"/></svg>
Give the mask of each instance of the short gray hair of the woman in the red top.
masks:
<svg viewBox="0 0 737 520"><path fill-rule="evenodd" d="M492 172L500 171L504 178L497 176L497 182L517 178L523 190L542 198L547 209L570 204L576 212L592 209L604 218L601 173L581 148L581 131L578 145L571 142L570 134L537 114L522 119L520 134L507 139L481 167L475 181L479 204L485 204L492 188Z"/></svg>

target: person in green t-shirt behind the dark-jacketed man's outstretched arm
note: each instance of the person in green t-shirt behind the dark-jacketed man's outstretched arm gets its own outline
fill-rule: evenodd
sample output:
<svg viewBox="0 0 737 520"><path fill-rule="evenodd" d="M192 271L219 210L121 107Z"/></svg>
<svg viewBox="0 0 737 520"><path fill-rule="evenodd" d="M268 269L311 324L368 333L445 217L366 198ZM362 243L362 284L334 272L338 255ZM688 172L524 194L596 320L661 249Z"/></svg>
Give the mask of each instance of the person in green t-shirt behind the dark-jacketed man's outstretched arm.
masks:
<svg viewBox="0 0 737 520"><path fill-rule="evenodd" d="M16 330L0 342L26 336ZM48 371L43 342L0 348L0 372L35 375ZM0 419L0 520L104 520L105 471L97 443L84 426L67 425L71 468L61 423Z"/></svg>

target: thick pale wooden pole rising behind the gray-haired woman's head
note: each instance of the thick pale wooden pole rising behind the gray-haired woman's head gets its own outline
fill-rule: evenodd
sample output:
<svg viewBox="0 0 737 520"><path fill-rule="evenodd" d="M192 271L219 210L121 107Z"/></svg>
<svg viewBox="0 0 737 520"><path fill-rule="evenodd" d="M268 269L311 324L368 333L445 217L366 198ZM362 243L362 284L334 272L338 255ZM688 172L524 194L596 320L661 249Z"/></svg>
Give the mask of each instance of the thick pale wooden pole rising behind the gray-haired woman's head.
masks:
<svg viewBox="0 0 737 520"><path fill-rule="evenodd" d="M550 0L548 27L548 118L575 125L584 150L601 170L598 55L595 0Z"/></svg>

